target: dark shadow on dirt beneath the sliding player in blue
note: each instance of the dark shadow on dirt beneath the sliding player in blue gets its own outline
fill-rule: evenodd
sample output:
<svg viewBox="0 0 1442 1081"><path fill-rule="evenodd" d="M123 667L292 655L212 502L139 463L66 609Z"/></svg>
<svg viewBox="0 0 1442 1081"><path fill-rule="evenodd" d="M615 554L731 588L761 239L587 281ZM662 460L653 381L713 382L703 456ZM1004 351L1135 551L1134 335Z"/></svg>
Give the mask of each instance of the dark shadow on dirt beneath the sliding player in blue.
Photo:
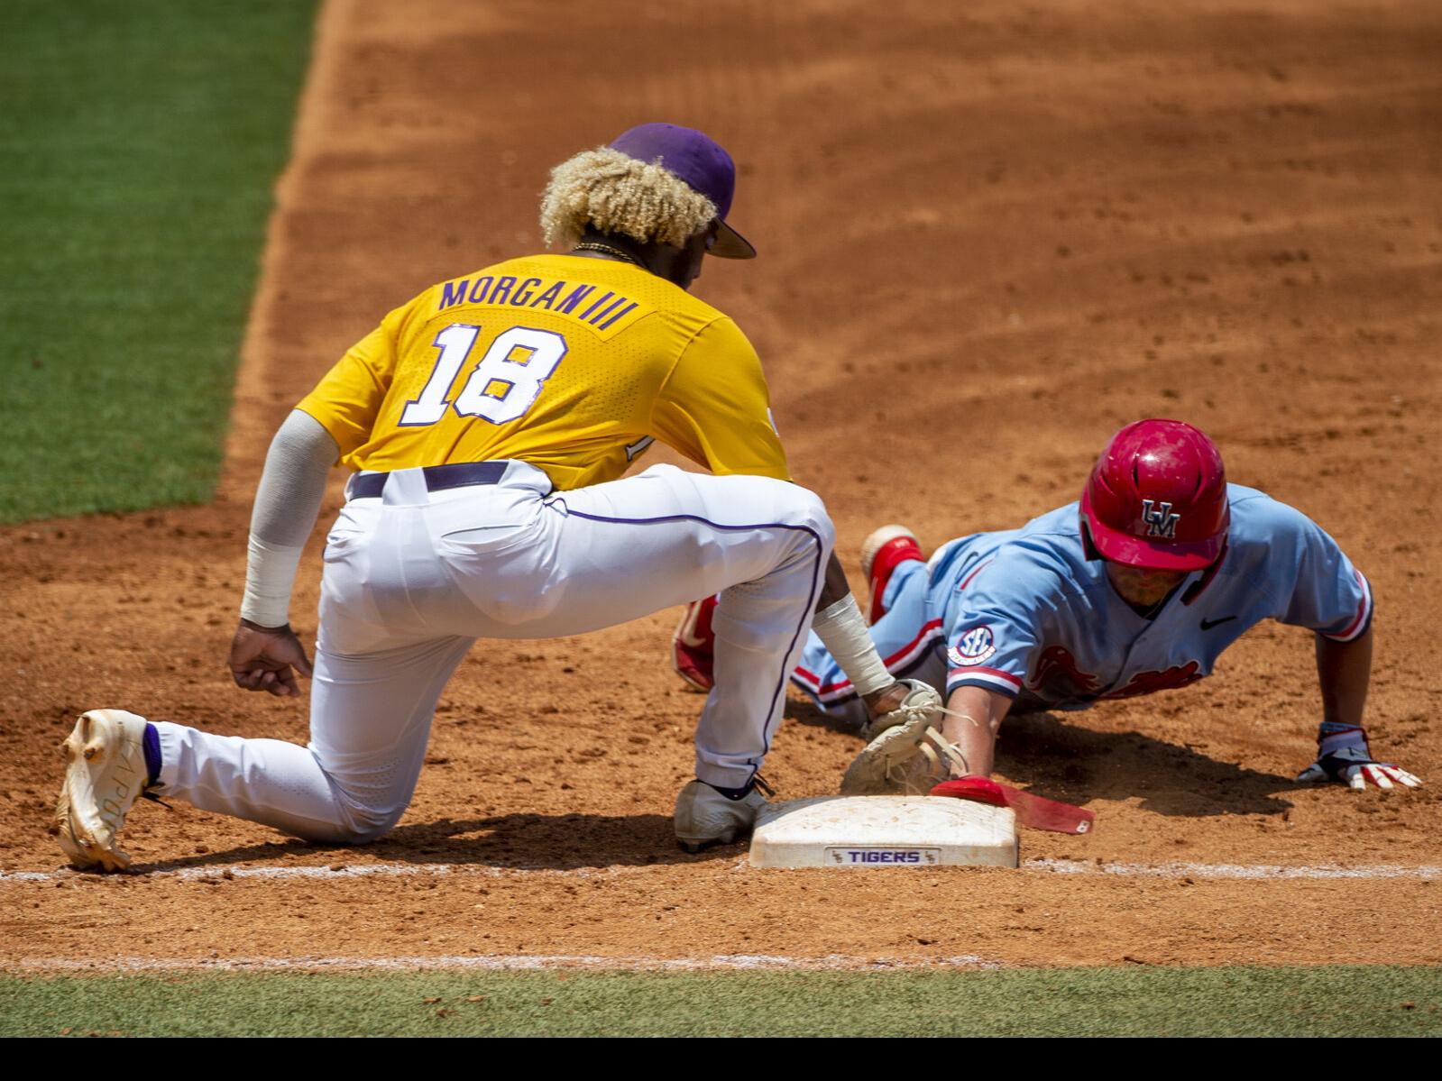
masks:
<svg viewBox="0 0 1442 1081"><path fill-rule="evenodd" d="M786 716L802 725L857 734L809 702L792 699ZM859 738L857 742L861 747ZM1291 777L1257 773L1141 732L1096 732L1054 713L1008 716L996 739L996 771L1005 780L1077 806L1141 797L1156 814L1280 814Z"/></svg>

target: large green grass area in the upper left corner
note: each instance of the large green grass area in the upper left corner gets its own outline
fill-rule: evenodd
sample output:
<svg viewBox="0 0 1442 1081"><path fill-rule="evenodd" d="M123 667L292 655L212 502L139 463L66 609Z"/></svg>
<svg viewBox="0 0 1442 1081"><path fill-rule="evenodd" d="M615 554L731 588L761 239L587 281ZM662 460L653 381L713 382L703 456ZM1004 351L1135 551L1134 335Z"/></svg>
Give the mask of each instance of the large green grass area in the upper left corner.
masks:
<svg viewBox="0 0 1442 1081"><path fill-rule="evenodd" d="M0 520L212 497L313 19L0 4Z"/></svg>

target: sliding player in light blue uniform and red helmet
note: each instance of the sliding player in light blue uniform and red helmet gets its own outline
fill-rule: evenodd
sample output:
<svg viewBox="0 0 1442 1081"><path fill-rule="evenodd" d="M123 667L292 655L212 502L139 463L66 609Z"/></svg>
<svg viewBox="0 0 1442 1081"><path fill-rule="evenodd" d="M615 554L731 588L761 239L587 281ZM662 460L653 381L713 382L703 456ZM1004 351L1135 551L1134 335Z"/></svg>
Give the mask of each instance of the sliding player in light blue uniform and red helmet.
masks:
<svg viewBox="0 0 1442 1081"><path fill-rule="evenodd" d="M926 791L946 777L986 777L1008 713L1187 686L1269 618L1317 637L1318 754L1298 780L1420 783L1379 761L1363 728L1367 579L1305 515L1227 484L1217 448L1191 425L1128 425L1102 453L1080 503L1021 529L963 536L926 559L911 530L883 526L862 546L862 565L877 650L893 675L945 683L942 731L956 754L923 754L942 749L921 738L924 729L904 739L883 732L848 771L848 791ZM695 650L688 657L694 666ZM865 722L815 636L792 679L828 712Z"/></svg>

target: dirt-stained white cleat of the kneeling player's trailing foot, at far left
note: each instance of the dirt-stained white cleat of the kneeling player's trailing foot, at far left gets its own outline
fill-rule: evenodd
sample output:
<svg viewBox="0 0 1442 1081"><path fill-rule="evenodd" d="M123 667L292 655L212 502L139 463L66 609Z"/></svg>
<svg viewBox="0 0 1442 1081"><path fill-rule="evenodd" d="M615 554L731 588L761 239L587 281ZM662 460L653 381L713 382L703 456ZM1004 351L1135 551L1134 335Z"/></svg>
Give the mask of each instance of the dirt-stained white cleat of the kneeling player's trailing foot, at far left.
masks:
<svg viewBox="0 0 1442 1081"><path fill-rule="evenodd" d="M81 713L75 731L61 744L68 765L50 832L72 866L130 866L130 856L115 848L115 840L150 780L144 738L146 718L124 709L91 709Z"/></svg>

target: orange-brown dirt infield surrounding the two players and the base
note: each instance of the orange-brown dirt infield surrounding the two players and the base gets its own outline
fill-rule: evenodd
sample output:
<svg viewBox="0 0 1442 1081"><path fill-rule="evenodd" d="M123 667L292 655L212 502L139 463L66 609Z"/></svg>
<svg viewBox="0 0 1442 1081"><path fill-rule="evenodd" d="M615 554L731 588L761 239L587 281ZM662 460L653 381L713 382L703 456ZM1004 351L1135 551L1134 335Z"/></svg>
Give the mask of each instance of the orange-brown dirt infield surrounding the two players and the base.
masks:
<svg viewBox="0 0 1442 1081"><path fill-rule="evenodd" d="M965 12L965 14L960 14ZM335 0L212 507L0 530L0 966L115 957L970 958L1439 963L1442 882L1237 881L1116 863L1442 863L1442 10L1204 1L384 4ZM1374 747L1430 784L1296 790L1309 636L1263 626L1200 686L1011 721L1001 774L1097 813L1021 871L758 872L673 848L699 699L675 613L482 643L410 813L366 849L143 804L137 869L61 862L55 747L118 705L303 741L225 649L270 432L433 281L535 249L547 169L645 120L717 135L754 264L698 294L756 342L796 477L848 561L1074 499L1142 415L1208 431L1233 480L1301 507L1376 590ZM339 491L332 490L326 515ZM297 624L314 630L319 545ZM859 585L859 582L858 582ZM307 613L310 613L307 615ZM767 775L833 790L855 737L795 705ZM358 875L389 865L417 873ZM450 871L435 865L450 866ZM313 873L242 871L311 868ZM333 871L323 871L335 868ZM953 961L955 963L955 961Z"/></svg>

